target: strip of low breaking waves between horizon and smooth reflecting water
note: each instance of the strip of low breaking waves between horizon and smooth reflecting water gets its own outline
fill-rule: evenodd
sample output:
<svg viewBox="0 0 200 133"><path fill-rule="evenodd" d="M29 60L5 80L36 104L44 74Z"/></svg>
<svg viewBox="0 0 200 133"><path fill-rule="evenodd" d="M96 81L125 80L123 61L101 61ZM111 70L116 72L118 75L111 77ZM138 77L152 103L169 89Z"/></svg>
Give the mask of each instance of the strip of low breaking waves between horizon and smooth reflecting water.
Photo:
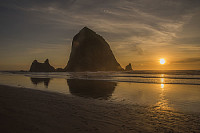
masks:
<svg viewBox="0 0 200 133"><path fill-rule="evenodd" d="M168 75L168 74L133 74L127 72L52 72L52 73L4 73L22 75L30 78L64 78L84 80L104 80L114 82L150 83L150 84L185 84L200 85L200 75Z"/></svg>

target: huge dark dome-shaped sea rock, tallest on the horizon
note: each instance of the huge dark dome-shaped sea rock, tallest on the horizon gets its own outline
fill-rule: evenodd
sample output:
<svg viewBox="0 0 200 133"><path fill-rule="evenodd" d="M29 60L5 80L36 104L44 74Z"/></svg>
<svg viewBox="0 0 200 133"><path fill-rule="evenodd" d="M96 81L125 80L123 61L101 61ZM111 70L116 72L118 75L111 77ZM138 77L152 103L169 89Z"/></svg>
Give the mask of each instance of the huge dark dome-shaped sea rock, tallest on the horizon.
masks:
<svg viewBox="0 0 200 133"><path fill-rule="evenodd" d="M65 71L120 71L109 44L91 29L84 27L72 41L70 58Z"/></svg>

